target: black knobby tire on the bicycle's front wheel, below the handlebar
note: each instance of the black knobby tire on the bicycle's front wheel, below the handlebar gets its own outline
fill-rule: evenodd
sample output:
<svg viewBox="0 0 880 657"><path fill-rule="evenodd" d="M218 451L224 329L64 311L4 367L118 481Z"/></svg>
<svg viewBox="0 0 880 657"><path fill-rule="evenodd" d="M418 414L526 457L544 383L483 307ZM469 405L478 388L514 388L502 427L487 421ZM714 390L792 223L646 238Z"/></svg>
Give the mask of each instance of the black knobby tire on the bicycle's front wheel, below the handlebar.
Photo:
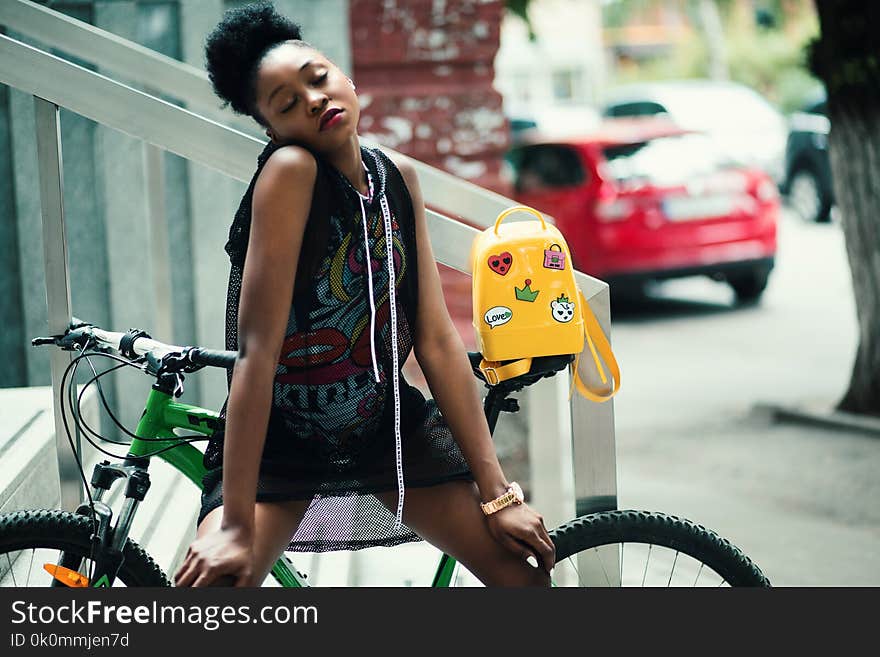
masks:
<svg viewBox="0 0 880 657"><path fill-rule="evenodd" d="M92 522L88 516L60 509L14 511L0 515L0 559L21 550L58 550L87 558ZM144 549L128 539L117 580L126 586L171 586L165 573ZM12 567L9 558L10 568ZM0 568L6 566L0 561ZM29 568L30 574L30 568ZM4 571L5 574L5 571ZM48 578L48 575L46 575ZM11 579L11 577L9 578ZM14 581L13 581L14 583Z"/></svg>

